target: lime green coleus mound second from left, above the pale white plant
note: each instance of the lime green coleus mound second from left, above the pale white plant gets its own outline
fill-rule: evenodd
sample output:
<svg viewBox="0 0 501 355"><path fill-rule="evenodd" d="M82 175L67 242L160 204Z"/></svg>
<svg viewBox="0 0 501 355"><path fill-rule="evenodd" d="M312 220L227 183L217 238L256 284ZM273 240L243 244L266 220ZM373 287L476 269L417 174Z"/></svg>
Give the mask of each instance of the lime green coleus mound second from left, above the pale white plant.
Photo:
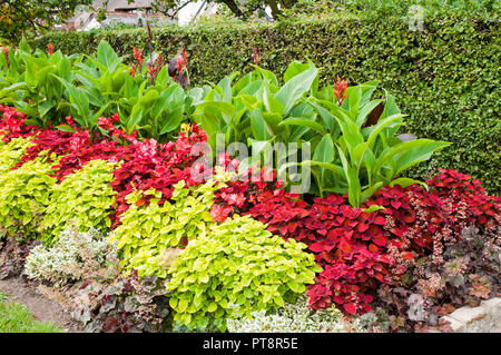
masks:
<svg viewBox="0 0 501 355"><path fill-rule="evenodd" d="M117 162L91 160L53 186L42 223L47 231L45 241L57 240L72 221L79 231L89 228L109 229L111 220L108 215L112 211L116 194L110 186L114 179L111 171L116 166Z"/></svg>

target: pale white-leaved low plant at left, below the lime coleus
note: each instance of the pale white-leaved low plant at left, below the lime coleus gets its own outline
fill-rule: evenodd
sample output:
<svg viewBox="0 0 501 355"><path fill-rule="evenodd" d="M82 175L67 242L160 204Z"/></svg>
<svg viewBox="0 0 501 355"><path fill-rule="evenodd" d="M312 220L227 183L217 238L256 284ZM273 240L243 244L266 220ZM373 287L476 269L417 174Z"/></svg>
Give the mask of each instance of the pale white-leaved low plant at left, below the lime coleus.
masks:
<svg viewBox="0 0 501 355"><path fill-rule="evenodd" d="M24 273L29 278L63 286L82 279L109 279L118 276L116 246L99 230L86 233L69 226L57 241L47 247L38 245L26 258Z"/></svg>

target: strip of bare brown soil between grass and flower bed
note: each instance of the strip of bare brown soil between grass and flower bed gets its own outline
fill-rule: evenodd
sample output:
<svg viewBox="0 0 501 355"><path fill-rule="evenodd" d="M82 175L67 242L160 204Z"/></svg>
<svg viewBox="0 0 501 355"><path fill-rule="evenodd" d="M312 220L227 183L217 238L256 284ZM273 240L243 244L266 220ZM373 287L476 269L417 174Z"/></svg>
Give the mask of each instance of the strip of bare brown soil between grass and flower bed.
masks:
<svg viewBox="0 0 501 355"><path fill-rule="evenodd" d="M0 290L10 296L10 300L28 307L35 319L50 322L68 333L84 333L79 323L71 318L69 310L43 296L37 286L26 283L21 277L0 279Z"/></svg>

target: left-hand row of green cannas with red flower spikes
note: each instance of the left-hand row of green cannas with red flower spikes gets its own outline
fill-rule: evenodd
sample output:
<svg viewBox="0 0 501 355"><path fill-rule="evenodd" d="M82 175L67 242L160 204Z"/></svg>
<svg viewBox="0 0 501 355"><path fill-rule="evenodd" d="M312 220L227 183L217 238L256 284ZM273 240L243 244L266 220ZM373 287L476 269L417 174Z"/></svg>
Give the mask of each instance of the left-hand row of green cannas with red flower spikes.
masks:
<svg viewBox="0 0 501 355"><path fill-rule="evenodd" d="M0 102L16 106L31 125L62 130L72 130L67 116L98 130L100 117L119 114L118 126L126 132L168 140L193 110L191 98L169 77L160 56L149 63L135 50L135 59L134 67L126 66L106 41L94 56L53 49L32 53L23 41L0 57Z"/></svg>

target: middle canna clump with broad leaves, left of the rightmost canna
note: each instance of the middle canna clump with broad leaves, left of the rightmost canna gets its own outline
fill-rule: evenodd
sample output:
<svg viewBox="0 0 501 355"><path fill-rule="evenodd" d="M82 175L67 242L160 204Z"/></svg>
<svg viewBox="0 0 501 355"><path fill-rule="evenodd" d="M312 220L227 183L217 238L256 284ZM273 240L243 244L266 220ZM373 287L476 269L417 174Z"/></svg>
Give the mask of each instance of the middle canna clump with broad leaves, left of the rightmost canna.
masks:
<svg viewBox="0 0 501 355"><path fill-rule="evenodd" d="M235 83L236 72L217 85L190 91L196 107L193 119L207 132L213 150L217 134L224 135L226 145L245 142L257 147L258 152L267 144L310 140L305 135L311 127L325 132L305 100L318 80L318 69L313 63L292 63L283 86L273 72L253 67L254 71Z"/></svg>

